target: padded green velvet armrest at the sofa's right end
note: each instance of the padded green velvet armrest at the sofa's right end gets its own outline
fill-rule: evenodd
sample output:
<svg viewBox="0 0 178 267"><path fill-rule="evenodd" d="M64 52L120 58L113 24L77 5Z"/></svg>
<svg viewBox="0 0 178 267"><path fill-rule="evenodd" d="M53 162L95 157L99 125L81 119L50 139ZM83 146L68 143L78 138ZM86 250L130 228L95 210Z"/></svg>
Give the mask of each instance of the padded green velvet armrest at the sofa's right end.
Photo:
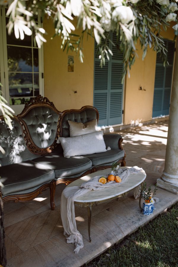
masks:
<svg viewBox="0 0 178 267"><path fill-rule="evenodd" d="M106 144L106 147L110 147L111 149L121 149L123 138L120 134L104 134L104 142Z"/></svg>

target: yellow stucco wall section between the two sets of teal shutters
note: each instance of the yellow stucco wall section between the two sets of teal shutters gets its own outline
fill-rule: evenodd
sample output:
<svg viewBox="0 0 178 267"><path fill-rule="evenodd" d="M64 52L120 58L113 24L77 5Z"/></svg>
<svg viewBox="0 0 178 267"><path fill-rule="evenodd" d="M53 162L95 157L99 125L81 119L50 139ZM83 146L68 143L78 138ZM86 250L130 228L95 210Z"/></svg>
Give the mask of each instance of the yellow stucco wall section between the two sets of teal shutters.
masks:
<svg viewBox="0 0 178 267"><path fill-rule="evenodd" d="M161 35L173 40L174 30L171 27ZM146 58L142 61L142 50L137 45L138 58L131 67L130 78L125 80L124 125L138 125L140 122L152 119L153 94L156 69L156 53L148 49ZM140 86L144 90L139 90Z"/></svg>

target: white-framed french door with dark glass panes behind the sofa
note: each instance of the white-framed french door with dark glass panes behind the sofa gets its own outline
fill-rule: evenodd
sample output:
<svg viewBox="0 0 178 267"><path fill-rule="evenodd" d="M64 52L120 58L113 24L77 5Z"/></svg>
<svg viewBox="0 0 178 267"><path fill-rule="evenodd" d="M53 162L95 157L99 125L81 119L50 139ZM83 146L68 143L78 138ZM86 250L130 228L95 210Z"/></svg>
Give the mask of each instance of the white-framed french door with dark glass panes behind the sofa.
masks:
<svg viewBox="0 0 178 267"><path fill-rule="evenodd" d="M43 95L43 50L38 49L34 36L16 39L7 33L7 10L0 13L0 81L8 105L17 115L32 97ZM36 22L41 24L40 12Z"/></svg>

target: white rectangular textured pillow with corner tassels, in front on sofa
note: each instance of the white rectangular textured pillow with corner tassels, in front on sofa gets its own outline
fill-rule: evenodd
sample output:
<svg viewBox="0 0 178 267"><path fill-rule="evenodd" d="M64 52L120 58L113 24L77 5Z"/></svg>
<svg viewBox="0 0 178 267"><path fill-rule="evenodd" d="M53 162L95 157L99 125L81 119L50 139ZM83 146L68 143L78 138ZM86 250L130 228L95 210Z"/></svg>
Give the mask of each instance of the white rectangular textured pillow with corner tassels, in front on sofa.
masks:
<svg viewBox="0 0 178 267"><path fill-rule="evenodd" d="M107 151L102 131L74 137L59 137L58 140L65 158Z"/></svg>

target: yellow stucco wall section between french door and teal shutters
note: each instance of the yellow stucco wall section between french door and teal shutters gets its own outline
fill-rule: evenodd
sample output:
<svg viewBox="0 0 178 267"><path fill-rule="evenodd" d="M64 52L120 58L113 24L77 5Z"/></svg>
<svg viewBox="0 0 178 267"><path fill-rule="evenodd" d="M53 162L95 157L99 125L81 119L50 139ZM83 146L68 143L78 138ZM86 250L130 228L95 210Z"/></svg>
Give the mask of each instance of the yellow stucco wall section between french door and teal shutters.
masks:
<svg viewBox="0 0 178 267"><path fill-rule="evenodd" d="M84 36L84 63L80 63L76 53L69 51L67 54L61 50L61 37L56 36L53 40L50 39L54 34L51 20L45 18L43 26L48 33L45 36L47 42L44 44L45 96L53 101L60 111L93 105L93 38L89 36L87 40ZM68 72L68 55L74 56L74 72Z"/></svg>

